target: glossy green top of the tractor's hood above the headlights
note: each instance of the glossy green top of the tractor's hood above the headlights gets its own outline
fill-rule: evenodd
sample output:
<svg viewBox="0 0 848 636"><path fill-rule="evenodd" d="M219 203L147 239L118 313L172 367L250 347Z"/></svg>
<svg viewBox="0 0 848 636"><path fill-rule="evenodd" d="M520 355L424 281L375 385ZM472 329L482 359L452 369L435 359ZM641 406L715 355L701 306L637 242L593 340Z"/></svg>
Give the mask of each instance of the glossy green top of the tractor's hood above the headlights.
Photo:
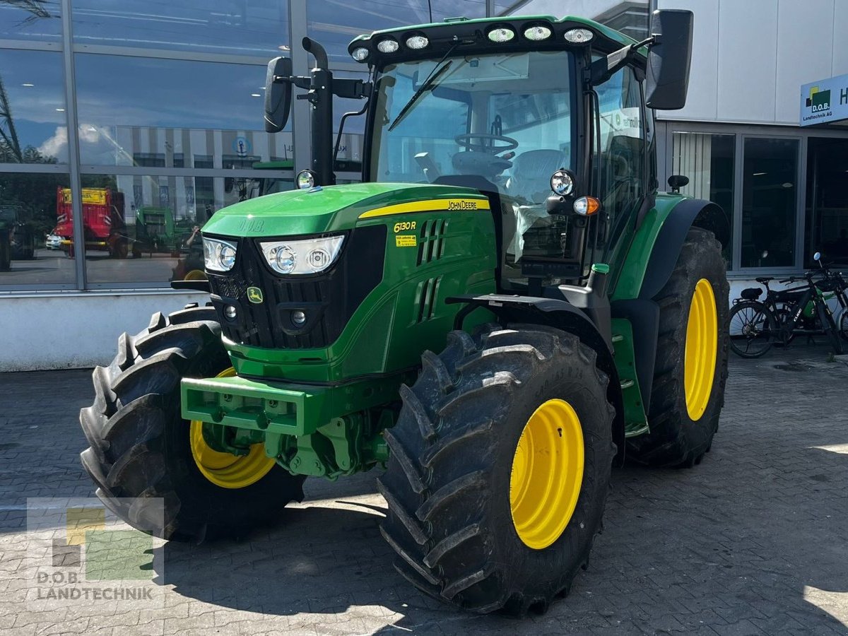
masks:
<svg viewBox="0 0 848 636"><path fill-rule="evenodd" d="M457 197L479 199L480 209L488 209L485 197L473 188L410 183L353 183L343 186L314 187L310 190L277 192L231 205L209 220L204 234L228 237L282 237L321 234L349 230L361 215L418 201L440 200L444 209ZM443 200L444 201L441 201ZM448 201L450 199L450 201ZM365 218L371 215L366 215Z"/></svg>

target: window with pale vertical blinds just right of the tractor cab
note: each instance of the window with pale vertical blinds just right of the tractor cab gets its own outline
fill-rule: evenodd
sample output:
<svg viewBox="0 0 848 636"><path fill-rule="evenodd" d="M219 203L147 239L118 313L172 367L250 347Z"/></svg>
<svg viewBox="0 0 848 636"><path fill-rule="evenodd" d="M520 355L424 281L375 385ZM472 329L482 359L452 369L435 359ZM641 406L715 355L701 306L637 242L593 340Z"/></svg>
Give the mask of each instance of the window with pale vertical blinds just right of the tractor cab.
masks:
<svg viewBox="0 0 848 636"><path fill-rule="evenodd" d="M733 227L735 135L701 132L672 133L672 175L689 177L680 189L687 197L703 198L721 206ZM724 248L730 265L733 241Z"/></svg>

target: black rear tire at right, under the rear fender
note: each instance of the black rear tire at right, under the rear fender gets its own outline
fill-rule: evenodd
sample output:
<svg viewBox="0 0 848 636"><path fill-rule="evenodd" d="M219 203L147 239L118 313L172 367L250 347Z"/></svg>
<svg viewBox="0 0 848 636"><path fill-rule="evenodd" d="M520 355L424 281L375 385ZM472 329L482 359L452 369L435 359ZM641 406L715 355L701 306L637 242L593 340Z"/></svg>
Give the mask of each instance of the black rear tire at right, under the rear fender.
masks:
<svg viewBox="0 0 848 636"><path fill-rule="evenodd" d="M715 364L708 395L704 393L702 400L689 396L688 403L685 378L689 314L701 281L709 283L716 308ZM712 232L691 228L672 276L655 298L660 305L660 332L648 413L650 432L628 440L628 455L633 459L650 466L691 467L699 464L711 449L728 379L729 291L721 243ZM697 390L696 387L692 393ZM706 387L703 390L706 392ZM689 413L693 401L700 401L694 419Z"/></svg>

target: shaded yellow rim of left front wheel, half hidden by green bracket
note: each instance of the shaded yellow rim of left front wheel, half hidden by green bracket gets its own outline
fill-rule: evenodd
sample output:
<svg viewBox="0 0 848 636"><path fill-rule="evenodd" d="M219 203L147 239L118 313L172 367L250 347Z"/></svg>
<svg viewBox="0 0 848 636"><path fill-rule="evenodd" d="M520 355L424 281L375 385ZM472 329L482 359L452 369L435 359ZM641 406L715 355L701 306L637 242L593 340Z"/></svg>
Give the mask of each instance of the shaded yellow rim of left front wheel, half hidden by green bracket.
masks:
<svg viewBox="0 0 848 636"><path fill-rule="evenodd" d="M218 377L232 377L236 370L232 366L221 371ZM247 455L221 453L209 447L204 440L204 423L192 420L189 431L192 457L198 470L210 482L221 488L245 488L256 483L271 471L276 461L265 455L263 444L254 444Z"/></svg>

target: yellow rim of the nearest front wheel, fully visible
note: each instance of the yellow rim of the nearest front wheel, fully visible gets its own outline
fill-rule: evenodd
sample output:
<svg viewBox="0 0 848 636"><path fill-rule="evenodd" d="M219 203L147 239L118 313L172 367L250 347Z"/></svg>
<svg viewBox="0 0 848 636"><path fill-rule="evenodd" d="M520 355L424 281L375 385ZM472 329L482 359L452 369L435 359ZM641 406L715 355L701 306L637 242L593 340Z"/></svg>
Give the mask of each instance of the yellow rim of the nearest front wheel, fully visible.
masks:
<svg viewBox="0 0 848 636"><path fill-rule="evenodd" d="M583 483L583 428L571 404L549 399L518 440L510 475L510 511L528 548L542 550L571 521Z"/></svg>

